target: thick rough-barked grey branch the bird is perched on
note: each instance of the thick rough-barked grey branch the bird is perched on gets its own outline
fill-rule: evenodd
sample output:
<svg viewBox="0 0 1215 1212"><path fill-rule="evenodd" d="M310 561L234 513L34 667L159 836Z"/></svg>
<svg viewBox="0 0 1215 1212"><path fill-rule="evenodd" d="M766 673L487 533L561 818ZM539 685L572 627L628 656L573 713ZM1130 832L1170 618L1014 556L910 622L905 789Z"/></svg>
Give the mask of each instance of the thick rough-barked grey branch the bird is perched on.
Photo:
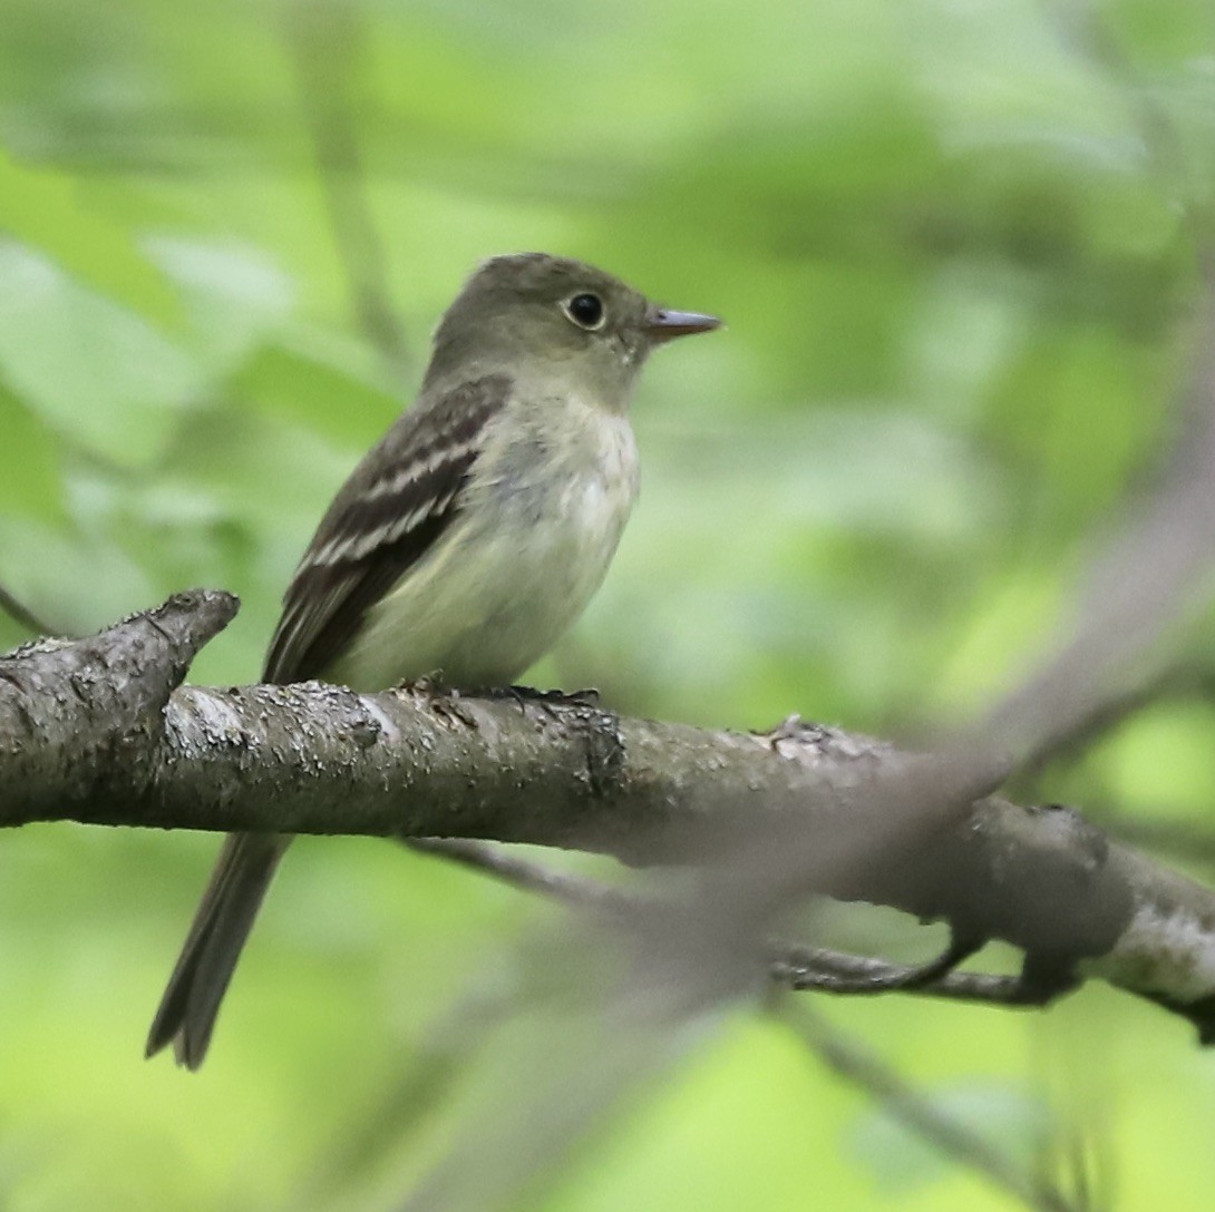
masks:
<svg viewBox="0 0 1215 1212"><path fill-rule="evenodd" d="M830 857L859 836L874 839L865 861L821 861L799 891L943 918L1025 948L1039 970L1079 964L1211 1035L1215 893L1069 809L959 806L946 777L942 811L891 829L872 788L905 780L931 799L932 766L836 729L740 735L425 684L182 685L236 608L181 594L0 658L0 825L484 838L719 870L756 837Z"/></svg>

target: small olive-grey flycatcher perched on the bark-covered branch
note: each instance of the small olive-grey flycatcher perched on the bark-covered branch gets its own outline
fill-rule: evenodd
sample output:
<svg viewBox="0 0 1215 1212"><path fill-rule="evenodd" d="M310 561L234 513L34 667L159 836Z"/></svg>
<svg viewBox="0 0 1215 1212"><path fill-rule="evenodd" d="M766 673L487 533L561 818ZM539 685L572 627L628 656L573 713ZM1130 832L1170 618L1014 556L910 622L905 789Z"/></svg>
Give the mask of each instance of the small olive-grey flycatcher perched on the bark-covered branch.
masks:
<svg viewBox="0 0 1215 1212"><path fill-rule="evenodd" d="M582 613L638 492L648 356L716 316L546 253L495 256L435 329L419 393L322 517L262 681L504 687ZM289 834L225 839L148 1033L202 1065Z"/></svg>

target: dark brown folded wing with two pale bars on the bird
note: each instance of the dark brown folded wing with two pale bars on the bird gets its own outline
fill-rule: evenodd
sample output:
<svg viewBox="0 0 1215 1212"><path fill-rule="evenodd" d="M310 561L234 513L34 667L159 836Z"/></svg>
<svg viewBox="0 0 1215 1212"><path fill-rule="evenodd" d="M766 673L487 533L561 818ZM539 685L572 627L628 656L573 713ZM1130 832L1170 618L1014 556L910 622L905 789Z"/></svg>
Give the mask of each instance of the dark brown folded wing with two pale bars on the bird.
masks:
<svg viewBox="0 0 1215 1212"><path fill-rule="evenodd" d="M355 469L317 527L283 597L264 681L317 678L367 613L460 510L486 423L510 380L462 384L409 410Z"/></svg>

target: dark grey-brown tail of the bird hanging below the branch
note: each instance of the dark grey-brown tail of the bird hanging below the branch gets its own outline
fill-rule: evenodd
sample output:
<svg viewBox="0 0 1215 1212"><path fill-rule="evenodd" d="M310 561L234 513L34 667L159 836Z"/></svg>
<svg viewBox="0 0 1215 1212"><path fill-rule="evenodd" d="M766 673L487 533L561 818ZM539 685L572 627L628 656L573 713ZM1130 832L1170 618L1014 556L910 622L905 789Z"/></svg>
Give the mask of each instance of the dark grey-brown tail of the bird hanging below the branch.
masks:
<svg viewBox="0 0 1215 1212"><path fill-rule="evenodd" d="M261 899L290 838L230 833L194 913L148 1032L147 1055L173 1043L177 1064L197 1069Z"/></svg>

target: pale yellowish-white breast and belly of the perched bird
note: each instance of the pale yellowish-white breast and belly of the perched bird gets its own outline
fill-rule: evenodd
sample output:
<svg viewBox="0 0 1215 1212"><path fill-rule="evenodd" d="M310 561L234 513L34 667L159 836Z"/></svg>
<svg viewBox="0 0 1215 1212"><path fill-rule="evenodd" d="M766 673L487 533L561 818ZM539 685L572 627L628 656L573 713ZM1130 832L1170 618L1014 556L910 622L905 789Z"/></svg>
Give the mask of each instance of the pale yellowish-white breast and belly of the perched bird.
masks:
<svg viewBox="0 0 1215 1212"><path fill-rule="evenodd" d="M373 608L355 663L374 646L392 653L399 679L518 678L601 584L637 487L623 417L554 400L493 426L458 519Z"/></svg>

